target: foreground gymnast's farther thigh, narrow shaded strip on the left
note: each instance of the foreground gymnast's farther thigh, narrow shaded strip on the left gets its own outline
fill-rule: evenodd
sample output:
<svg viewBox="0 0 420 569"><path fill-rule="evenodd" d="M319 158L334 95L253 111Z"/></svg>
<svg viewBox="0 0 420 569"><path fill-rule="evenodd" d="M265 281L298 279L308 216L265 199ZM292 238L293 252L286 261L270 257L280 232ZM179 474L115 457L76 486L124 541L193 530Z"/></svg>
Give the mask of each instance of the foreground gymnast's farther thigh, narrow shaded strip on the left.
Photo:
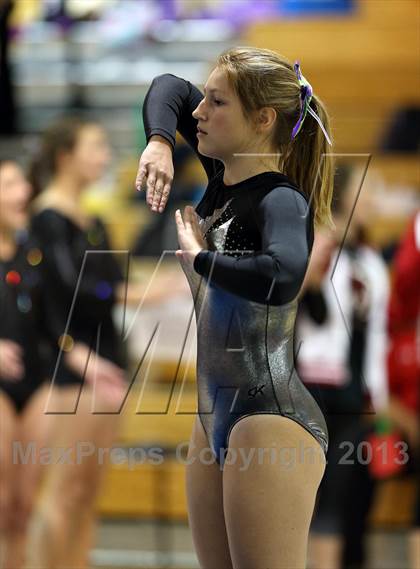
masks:
<svg viewBox="0 0 420 569"><path fill-rule="evenodd" d="M197 415L187 458L189 521L201 569L232 569L223 514L219 464Z"/></svg>

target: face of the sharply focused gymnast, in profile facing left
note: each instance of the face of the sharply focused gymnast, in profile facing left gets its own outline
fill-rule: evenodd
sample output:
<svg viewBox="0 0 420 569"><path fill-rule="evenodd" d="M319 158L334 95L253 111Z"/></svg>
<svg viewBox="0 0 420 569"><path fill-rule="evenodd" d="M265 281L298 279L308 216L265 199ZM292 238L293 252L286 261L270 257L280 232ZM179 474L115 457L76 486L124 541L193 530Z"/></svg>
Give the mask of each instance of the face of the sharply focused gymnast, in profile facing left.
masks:
<svg viewBox="0 0 420 569"><path fill-rule="evenodd" d="M198 151L222 162L246 152L255 133L226 74L215 68L204 87L204 99L193 112L198 121Z"/></svg>

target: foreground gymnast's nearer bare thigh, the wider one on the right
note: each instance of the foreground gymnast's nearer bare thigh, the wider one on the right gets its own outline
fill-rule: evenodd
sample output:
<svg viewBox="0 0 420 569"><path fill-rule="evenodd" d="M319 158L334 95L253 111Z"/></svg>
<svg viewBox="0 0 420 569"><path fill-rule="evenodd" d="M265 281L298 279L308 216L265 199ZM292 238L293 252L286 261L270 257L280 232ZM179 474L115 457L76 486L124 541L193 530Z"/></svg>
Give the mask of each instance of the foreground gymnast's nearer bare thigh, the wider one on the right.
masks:
<svg viewBox="0 0 420 569"><path fill-rule="evenodd" d="M325 455L299 423L257 414L229 437L223 497L235 569L304 569Z"/></svg>

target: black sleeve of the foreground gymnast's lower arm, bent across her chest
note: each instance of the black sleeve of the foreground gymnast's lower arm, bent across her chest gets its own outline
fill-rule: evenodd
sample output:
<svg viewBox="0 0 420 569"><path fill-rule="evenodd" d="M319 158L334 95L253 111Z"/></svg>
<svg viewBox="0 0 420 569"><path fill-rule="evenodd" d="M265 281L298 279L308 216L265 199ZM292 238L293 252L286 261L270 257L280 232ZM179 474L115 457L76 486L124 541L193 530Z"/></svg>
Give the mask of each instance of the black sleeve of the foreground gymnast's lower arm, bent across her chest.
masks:
<svg viewBox="0 0 420 569"><path fill-rule="evenodd" d="M305 199L287 187L271 190L255 209L262 250L239 258L201 251L194 269L212 284L256 302L283 304L301 287L309 256Z"/></svg>

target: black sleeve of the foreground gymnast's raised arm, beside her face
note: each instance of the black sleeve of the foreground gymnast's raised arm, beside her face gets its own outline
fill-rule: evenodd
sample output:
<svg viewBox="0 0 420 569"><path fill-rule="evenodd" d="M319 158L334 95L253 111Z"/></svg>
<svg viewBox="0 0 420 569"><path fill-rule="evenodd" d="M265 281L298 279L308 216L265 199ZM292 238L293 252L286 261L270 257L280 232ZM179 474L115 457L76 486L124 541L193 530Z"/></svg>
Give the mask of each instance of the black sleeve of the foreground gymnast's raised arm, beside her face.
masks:
<svg viewBox="0 0 420 569"><path fill-rule="evenodd" d="M158 75L152 81L143 103L143 123L147 141L154 134L159 134L172 147L175 146L178 130L197 154L207 177L211 179L216 172L217 160L198 152L198 121L192 116L202 99L201 91L189 81L170 73Z"/></svg>

